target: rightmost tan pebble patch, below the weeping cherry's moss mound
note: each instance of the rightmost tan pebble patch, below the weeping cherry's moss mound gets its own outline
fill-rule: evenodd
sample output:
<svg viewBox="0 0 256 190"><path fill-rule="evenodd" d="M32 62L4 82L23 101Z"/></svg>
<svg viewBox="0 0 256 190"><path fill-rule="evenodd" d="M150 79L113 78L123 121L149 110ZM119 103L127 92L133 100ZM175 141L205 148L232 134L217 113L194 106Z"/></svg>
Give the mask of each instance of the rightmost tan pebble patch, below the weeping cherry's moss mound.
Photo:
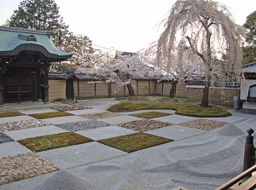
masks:
<svg viewBox="0 0 256 190"><path fill-rule="evenodd" d="M200 119L195 119L193 121L184 122L179 125L182 125L185 127L191 127L191 128L195 128L195 129L200 129L200 130L214 130L219 127L223 127L226 124L228 124L228 123L200 118Z"/></svg>

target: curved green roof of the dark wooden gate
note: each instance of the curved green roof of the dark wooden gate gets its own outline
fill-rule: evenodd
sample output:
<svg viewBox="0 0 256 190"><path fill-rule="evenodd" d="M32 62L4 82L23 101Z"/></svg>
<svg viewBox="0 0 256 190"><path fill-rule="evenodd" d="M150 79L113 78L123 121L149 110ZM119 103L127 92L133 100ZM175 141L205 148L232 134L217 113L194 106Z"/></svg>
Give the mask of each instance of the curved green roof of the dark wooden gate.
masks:
<svg viewBox="0 0 256 190"><path fill-rule="evenodd" d="M49 32L0 26L0 58L14 57L21 51L40 52L49 61L67 60L72 56L55 47Z"/></svg>

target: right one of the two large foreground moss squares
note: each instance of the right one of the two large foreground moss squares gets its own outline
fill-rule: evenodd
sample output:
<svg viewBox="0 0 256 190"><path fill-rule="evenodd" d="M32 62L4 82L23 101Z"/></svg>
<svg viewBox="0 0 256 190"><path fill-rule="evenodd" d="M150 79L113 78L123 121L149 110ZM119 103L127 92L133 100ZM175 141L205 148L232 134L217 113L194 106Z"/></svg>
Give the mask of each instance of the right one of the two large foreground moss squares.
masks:
<svg viewBox="0 0 256 190"><path fill-rule="evenodd" d="M131 135L122 135L109 139L103 139L99 142L109 147L117 148L126 153L132 153L143 148L154 147L170 141L173 140L156 135L135 133Z"/></svg>

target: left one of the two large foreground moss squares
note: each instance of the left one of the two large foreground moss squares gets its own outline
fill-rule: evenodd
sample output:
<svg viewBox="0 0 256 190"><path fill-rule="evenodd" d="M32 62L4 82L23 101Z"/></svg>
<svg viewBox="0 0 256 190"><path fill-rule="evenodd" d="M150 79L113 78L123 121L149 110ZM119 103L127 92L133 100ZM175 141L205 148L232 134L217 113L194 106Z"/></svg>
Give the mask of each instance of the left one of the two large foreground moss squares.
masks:
<svg viewBox="0 0 256 190"><path fill-rule="evenodd" d="M75 133L60 133L23 139L18 142L30 149L32 152L38 153L54 148L83 144L90 141L93 140L86 138L83 135Z"/></svg>

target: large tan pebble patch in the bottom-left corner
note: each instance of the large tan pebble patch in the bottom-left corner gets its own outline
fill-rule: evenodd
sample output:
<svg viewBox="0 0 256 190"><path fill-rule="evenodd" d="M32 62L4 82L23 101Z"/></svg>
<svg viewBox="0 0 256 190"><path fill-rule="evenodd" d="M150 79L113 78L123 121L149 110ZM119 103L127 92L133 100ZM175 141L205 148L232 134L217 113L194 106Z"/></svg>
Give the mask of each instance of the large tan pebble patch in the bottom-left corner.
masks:
<svg viewBox="0 0 256 190"><path fill-rule="evenodd" d="M26 153L0 159L0 185L40 176L58 170L37 153Z"/></svg>

